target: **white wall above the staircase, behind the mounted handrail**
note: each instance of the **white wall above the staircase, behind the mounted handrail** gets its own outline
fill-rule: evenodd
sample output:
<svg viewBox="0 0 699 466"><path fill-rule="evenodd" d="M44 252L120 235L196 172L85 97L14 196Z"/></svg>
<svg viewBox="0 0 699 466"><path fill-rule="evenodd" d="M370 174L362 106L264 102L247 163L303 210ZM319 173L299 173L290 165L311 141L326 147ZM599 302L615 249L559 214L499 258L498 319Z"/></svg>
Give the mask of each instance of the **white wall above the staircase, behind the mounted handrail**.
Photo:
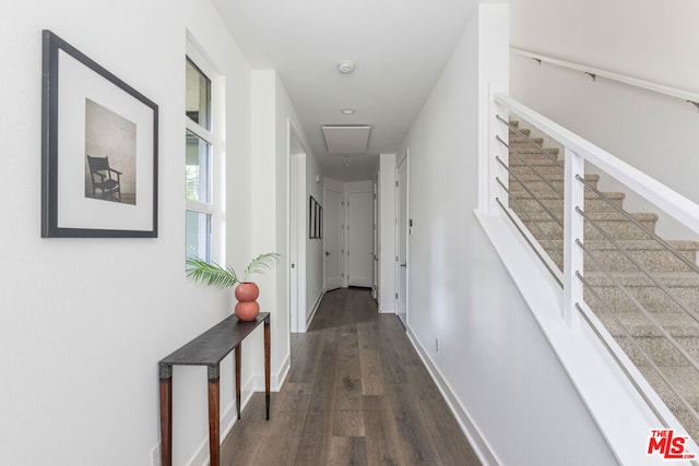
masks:
<svg viewBox="0 0 699 466"><path fill-rule="evenodd" d="M699 3L512 0L511 44L699 92ZM511 96L699 201L697 108L512 55Z"/></svg>

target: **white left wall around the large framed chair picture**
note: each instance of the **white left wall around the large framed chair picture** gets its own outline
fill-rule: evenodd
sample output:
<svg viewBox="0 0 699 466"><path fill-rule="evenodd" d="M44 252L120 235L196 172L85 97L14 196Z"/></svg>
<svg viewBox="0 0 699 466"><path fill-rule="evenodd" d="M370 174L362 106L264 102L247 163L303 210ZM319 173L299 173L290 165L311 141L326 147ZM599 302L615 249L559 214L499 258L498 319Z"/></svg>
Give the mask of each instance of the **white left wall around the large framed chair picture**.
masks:
<svg viewBox="0 0 699 466"><path fill-rule="evenodd" d="M158 442L157 361L233 307L229 291L194 286L185 277L186 29L226 81L233 264L252 252L246 225L249 67L208 1L28 0L4 2L0 17L0 101L8 110L0 117L0 145L12 174L0 184L4 218L11 219L0 230L0 263L13 264L0 270L1 462L150 465ZM43 28L158 104L157 239L40 238ZM273 325L276 332L276 321ZM244 357L246 396L253 373L262 372L252 363L253 353ZM228 416L232 378L226 358L221 403ZM187 464L208 438L205 380L204 368L175 368L177 465Z"/></svg>

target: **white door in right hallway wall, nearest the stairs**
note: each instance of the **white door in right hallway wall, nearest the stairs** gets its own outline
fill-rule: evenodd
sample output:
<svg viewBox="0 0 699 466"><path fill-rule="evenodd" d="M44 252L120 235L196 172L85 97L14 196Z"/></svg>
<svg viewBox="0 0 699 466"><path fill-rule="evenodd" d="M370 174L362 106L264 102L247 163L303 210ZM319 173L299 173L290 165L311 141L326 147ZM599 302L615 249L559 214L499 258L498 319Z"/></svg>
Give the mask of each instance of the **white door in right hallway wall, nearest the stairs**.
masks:
<svg viewBox="0 0 699 466"><path fill-rule="evenodd" d="M396 263L396 297L395 306L399 319L407 323L407 154L400 162L396 170L396 214L398 214L398 263Z"/></svg>

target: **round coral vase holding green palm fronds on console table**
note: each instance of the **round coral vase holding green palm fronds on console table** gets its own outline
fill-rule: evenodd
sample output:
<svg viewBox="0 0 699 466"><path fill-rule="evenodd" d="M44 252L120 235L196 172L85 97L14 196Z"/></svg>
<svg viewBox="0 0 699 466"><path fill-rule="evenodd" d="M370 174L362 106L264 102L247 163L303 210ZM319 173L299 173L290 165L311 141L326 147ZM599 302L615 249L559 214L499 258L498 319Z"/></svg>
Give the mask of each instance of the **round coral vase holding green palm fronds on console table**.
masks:
<svg viewBox="0 0 699 466"><path fill-rule="evenodd" d="M222 267L216 263L208 263L199 259L187 260L187 276L197 283L203 283L216 288L236 287L235 294L238 302L235 313L241 321L253 321L260 313L260 304L257 299L260 296L260 288L248 278L252 274L262 273L271 268L279 260L280 254L268 252L254 258L242 273L242 279L238 279L236 271L228 266ZM237 286L236 286L237 285Z"/></svg>

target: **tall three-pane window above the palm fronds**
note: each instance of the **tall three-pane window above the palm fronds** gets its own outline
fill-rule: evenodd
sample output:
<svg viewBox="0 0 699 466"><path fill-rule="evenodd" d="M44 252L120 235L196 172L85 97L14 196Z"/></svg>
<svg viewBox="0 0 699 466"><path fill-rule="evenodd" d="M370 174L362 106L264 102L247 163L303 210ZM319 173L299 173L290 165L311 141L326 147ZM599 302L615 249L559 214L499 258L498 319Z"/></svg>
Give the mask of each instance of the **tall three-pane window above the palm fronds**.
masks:
<svg viewBox="0 0 699 466"><path fill-rule="evenodd" d="M187 258L210 262L215 215L212 186L214 154L212 83L190 57L186 59L186 70Z"/></svg>

